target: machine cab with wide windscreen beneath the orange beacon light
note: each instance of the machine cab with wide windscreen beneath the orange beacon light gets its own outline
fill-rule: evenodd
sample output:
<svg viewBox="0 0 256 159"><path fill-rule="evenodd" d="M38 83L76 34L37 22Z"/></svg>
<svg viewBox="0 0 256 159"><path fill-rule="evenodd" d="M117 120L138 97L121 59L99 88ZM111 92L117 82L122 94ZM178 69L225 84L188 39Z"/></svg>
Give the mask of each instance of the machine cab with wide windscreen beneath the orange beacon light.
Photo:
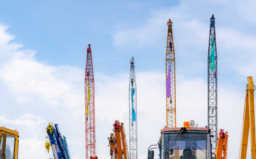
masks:
<svg viewBox="0 0 256 159"><path fill-rule="evenodd" d="M212 159L208 128L164 128L159 142L161 159Z"/></svg>

